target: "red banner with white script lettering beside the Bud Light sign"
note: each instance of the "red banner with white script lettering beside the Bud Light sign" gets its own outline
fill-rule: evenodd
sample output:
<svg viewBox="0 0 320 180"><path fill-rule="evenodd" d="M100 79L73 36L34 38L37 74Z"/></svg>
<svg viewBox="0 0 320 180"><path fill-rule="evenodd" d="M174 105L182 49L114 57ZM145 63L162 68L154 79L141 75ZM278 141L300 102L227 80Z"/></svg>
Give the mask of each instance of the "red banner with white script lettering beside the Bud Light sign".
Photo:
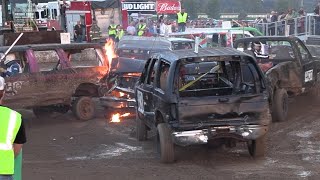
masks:
<svg viewBox="0 0 320 180"><path fill-rule="evenodd" d="M158 14L176 14L180 10L181 4L177 0L157 0Z"/></svg>

